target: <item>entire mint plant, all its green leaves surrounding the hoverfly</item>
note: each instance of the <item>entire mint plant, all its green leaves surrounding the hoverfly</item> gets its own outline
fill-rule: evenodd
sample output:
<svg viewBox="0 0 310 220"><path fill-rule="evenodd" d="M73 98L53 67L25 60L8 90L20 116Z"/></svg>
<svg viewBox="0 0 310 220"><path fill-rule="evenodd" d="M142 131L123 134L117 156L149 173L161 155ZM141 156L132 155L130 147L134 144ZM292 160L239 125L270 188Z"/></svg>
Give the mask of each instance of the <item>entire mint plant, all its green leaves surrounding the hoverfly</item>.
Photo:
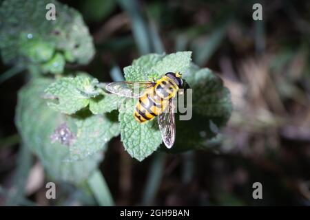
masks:
<svg viewBox="0 0 310 220"><path fill-rule="evenodd" d="M48 3L56 5L56 21L45 19ZM229 120L228 89L210 69L192 63L192 52L141 56L123 69L125 80L157 80L167 72L180 72L193 89L192 120L176 117L176 143L167 150L157 120L139 124L133 112L124 111L133 109L136 99L110 94L105 83L67 68L68 63L87 64L94 56L92 37L79 12L57 1L3 1L0 21L3 62L30 73L18 94L15 122L23 144L51 179L76 186L92 173L102 179L96 169L107 144L118 135L125 151L141 162L155 151L207 148ZM94 179L90 182L96 186Z"/></svg>

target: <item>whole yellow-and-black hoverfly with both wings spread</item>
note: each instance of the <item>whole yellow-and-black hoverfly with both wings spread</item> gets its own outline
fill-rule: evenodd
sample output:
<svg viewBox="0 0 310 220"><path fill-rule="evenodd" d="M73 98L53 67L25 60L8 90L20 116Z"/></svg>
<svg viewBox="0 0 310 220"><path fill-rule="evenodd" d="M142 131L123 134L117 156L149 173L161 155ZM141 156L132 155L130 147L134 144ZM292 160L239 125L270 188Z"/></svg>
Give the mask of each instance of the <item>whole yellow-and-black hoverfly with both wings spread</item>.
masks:
<svg viewBox="0 0 310 220"><path fill-rule="evenodd" d="M158 126L165 146L171 148L176 139L174 98L183 88L182 76L168 72L155 82L114 82L105 87L118 96L139 98L134 109L134 119L140 123L158 116Z"/></svg>

